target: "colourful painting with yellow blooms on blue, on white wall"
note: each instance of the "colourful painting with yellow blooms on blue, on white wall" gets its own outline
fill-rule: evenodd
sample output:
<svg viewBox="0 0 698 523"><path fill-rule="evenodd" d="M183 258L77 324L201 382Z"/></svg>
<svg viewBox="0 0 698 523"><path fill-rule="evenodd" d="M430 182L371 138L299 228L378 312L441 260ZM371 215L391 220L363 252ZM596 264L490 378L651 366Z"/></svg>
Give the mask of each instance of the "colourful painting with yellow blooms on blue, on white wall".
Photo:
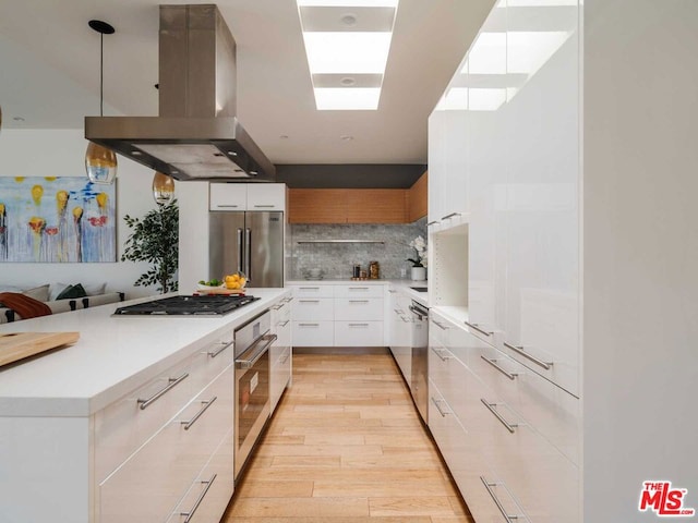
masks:
<svg viewBox="0 0 698 523"><path fill-rule="evenodd" d="M0 263L116 262L116 184L0 178Z"/></svg>

